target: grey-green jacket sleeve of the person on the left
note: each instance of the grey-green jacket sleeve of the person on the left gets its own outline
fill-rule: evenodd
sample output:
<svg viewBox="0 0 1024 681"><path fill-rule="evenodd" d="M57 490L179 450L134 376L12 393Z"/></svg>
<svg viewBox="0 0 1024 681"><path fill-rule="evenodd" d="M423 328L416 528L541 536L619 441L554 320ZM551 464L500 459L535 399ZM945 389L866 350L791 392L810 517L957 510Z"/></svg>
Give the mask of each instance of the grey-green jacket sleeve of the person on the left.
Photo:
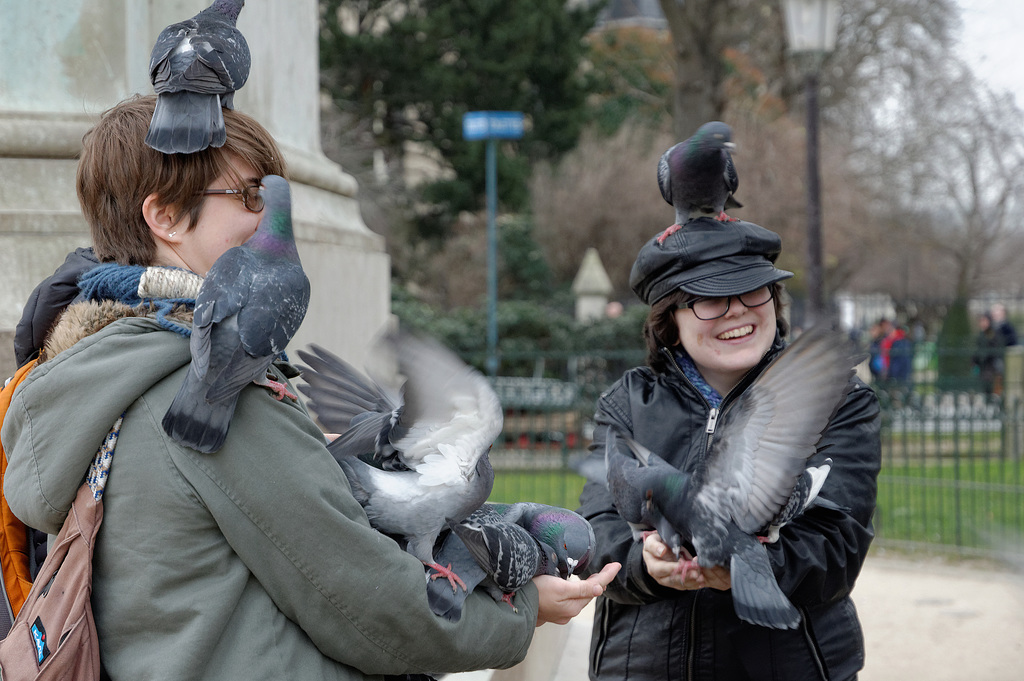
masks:
<svg viewBox="0 0 1024 681"><path fill-rule="evenodd" d="M435 615L423 563L371 528L323 434L297 408L265 395L250 403L254 393L243 391L223 450L181 448L180 465L231 548L324 654L367 674L505 668L525 656L534 585L516 595L518 612L480 590L459 622Z"/></svg>

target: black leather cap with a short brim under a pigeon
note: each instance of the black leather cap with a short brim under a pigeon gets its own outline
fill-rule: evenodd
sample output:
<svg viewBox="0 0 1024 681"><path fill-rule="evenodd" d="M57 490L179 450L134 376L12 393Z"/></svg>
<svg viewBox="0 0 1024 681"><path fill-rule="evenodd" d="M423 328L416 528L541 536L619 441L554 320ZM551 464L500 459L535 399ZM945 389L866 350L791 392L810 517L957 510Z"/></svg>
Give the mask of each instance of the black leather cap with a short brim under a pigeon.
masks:
<svg viewBox="0 0 1024 681"><path fill-rule="evenodd" d="M793 276L776 269L782 240L753 222L701 217L673 225L647 242L630 272L630 287L648 305L680 290L735 296Z"/></svg>

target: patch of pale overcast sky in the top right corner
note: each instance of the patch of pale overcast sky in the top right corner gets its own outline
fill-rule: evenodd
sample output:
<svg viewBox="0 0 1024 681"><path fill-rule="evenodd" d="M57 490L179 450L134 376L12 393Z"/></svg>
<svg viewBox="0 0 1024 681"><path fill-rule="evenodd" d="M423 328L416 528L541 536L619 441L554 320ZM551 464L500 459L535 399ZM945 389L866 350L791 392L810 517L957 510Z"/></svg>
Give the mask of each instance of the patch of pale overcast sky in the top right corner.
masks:
<svg viewBox="0 0 1024 681"><path fill-rule="evenodd" d="M1014 92L1024 108L1024 2L957 1L964 10L961 53L993 90Z"/></svg>

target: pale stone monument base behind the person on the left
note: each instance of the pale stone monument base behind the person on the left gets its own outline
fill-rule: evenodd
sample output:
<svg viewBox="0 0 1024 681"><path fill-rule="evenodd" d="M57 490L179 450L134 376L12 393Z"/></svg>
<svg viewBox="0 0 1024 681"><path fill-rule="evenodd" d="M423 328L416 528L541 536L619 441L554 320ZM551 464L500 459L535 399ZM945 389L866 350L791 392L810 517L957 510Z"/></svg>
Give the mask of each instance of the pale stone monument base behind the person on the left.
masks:
<svg viewBox="0 0 1024 681"><path fill-rule="evenodd" d="M151 93L150 51L210 0L0 0L0 374L32 289L89 244L75 195L82 135L125 96ZM359 214L355 180L319 143L316 0L251 1L239 18L252 70L234 104L276 137L292 180L299 253L312 284L292 347L362 360L390 316L390 263Z"/></svg>

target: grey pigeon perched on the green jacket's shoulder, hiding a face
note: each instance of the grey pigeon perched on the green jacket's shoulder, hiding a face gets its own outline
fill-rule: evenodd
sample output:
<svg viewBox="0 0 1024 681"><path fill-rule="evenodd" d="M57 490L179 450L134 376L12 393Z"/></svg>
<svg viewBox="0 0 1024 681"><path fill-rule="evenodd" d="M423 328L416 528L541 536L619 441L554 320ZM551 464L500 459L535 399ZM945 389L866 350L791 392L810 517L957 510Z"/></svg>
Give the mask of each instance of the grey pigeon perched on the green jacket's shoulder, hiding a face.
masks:
<svg viewBox="0 0 1024 681"><path fill-rule="evenodd" d="M306 314L309 280L292 233L288 181L262 180L264 208L256 232L228 249L207 272L193 317L191 364L164 415L164 430L200 452L219 450L239 393L250 383L295 397L267 377Z"/></svg>

